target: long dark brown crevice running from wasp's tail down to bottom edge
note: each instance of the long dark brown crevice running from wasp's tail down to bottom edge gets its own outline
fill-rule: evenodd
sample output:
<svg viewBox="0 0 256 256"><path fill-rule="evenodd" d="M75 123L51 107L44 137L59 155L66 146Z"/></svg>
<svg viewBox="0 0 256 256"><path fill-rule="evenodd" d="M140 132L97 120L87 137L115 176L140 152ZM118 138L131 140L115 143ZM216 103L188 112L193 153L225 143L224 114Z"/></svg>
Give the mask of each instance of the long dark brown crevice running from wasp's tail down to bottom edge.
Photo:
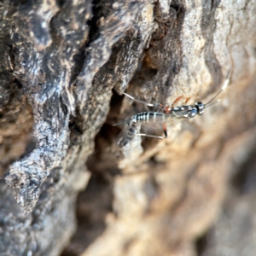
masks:
<svg viewBox="0 0 256 256"><path fill-rule="evenodd" d="M90 243L102 235L106 228L106 216L113 212L113 177L120 172L116 154L108 152L108 147L111 147L113 138L117 137L120 131L112 124L120 109L122 98L123 96L113 91L107 120L97 133L94 153L86 162L91 177L86 189L78 196L78 230L61 256L78 256L83 253ZM74 124L72 126L75 127Z"/></svg>

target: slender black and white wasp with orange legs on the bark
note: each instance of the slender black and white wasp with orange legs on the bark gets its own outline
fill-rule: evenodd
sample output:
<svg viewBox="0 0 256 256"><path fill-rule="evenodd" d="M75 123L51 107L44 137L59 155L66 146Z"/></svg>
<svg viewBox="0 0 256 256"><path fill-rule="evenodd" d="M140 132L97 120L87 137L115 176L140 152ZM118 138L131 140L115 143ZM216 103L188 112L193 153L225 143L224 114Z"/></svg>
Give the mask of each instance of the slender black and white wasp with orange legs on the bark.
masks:
<svg viewBox="0 0 256 256"><path fill-rule="evenodd" d="M163 131L164 131L164 137L161 136L154 136L154 135L149 135L149 134L144 134L144 133L137 133L137 136L144 136L144 137L156 137L156 138L166 138L167 137L167 128L166 128L166 123L170 121L170 119L192 119L194 118L197 114L201 115L204 113L204 109L208 108L209 106L212 106L213 104L215 104L216 102L219 102L220 100L213 102L214 99L216 99L216 97L218 97L218 95L226 89L226 87L228 86L230 82L230 71L226 77L226 79L224 80L224 84L221 88L221 90L218 91L218 93L212 97L212 99L207 102L206 104L202 103L202 102L195 102L194 105L182 105L182 106L177 106L174 107L174 104L179 101L183 96L179 96L177 97L177 99L172 103L172 106L169 107L168 105L163 106L160 103L156 103L156 104L151 104L148 102L143 102L140 100L135 99L133 96L129 95L129 94L125 94L125 96L130 97L133 101L135 102L141 102L145 105L147 105L148 107L154 107L154 108L158 108L160 109L161 112L143 112L143 113L137 113L136 115L132 116L131 119L126 119L118 124L114 124L115 125L121 125L121 124L125 124L125 123L140 123L140 124L144 124L144 123L149 123L149 122L157 122L157 123L162 123L163 125ZM189 101L189 98L186 99L185 104Z"/></svg>

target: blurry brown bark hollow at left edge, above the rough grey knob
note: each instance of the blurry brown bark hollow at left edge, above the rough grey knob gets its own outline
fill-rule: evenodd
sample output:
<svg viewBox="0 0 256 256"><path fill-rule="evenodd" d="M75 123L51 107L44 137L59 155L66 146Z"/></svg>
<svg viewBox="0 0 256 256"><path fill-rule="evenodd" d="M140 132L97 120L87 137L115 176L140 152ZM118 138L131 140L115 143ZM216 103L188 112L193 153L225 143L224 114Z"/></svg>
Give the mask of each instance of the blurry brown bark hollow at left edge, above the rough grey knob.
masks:
<svg viewBox="0 0 256 256"><path fill-rule="evenodd" d="M32 107L24 96L20 81L14 79L8 73L4 73L4 75L5 78L9 79L9 83L3 84L2 88L3 101L0 102L0 128L3 131L14 131L9 131L9 135L0 136L2 139L0 141L0 151L5 154L5 157L0 159L0 177L8 172L7 168L12 162L21 159L26 155L26 152L31 152L30 150L34 148ZM15 125L16 128L12 125ZM22 150L23 152L19 149L20 146L24 150ZM15 148L15 150L12 148Z"/></svg>

